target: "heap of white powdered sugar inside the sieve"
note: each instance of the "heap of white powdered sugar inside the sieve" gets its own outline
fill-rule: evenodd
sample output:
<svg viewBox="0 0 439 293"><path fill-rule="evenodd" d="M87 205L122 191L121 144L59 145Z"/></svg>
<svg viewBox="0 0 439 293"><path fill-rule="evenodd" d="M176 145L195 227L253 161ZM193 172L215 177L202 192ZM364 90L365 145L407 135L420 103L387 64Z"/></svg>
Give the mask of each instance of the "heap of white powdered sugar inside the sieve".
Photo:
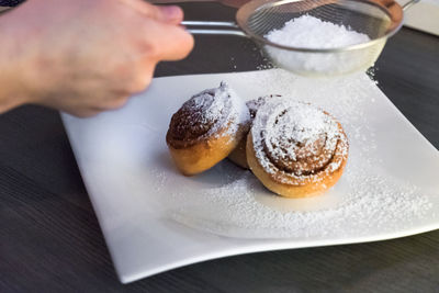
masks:
<svg viewBox="0 0 439 293"><path fill-rule="evenodd" d="M367 34L312 15L292 19L283 27L267 33L264 37L278 45L309 49L341 48L370 41ZM269 45L266 50L277 65L295 72L346 74L352 68L365 69L372 66L369 64L369 50L302 53Z"/></svg>

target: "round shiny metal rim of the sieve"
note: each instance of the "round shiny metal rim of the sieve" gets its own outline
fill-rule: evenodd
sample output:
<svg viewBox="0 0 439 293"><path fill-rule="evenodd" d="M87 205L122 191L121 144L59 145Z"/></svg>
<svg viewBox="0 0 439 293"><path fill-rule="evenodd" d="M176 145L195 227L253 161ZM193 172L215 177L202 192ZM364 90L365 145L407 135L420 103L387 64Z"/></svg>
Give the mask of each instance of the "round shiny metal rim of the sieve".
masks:
<svg viewBox="0 0 439 293"><path fill-rule="evenodd" d="M365 43L342 46L342 47L335 47L335 48L306 48L306 47L292 47L292 46L280 45L280 44L268 41L266 37L255 34L252 32L252 30L249 29L248 20L256 11L267 9L267 7L274 7L274 5L292 3L292 2L300 2L300 1L303 1L303 0L281 0L281 1L279 1L279 0L252 0L252 1L244 4L237 11L236 22L247 36L249 36L250 38L252 38L255 41L258 41L259 43L261 43L263 45L269 45L272 47L277 47L277 48L281 48L281 49L285 49L285 50L290 50L290 52L303 52L303 53L341 53L341 52L368 48L370 46L385 42L389 37L393 36L397 31L399 31L399 29L402 27L403 22L404 22L403 8L398 3L392 2L392 4L394 4L395 8L399 10L398 12L401 12L401 14L402 14L402 18L397 22L392 21L393 22L392 30L390 30L383 36L371 40ZM389 12L389 10L384 5L379 4L375 1L371 1L371 0L342 0L342 1L345 1L345 2L361 2L361 3L368 3L371 5L374 5L374 7L379 8L380 10L382 10L384 13L386 13L392 19L392 14Z"/></svg>

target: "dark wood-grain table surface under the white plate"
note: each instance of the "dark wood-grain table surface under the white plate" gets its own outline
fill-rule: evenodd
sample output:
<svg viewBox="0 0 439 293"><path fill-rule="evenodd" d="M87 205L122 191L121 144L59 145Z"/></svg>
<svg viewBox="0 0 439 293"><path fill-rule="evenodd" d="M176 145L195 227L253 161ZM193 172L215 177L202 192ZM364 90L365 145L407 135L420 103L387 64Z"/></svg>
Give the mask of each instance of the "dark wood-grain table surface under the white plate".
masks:
<svg viewBox="0 0 439 293"><path fill-rule="evenodd" d="M233 19L185 4L187 19ZM252 70L251 42L196 38L156 76ZM379 87L439 148L439 37L403 29L376 65ZM439 171L439 170L438 170ZM439 176L439 173L438 173ZM439 179L439 178L438 178ZM360 245L206 261L122 285L57 112L0 116L0 292L439 292L439 230Z"/></svg>

